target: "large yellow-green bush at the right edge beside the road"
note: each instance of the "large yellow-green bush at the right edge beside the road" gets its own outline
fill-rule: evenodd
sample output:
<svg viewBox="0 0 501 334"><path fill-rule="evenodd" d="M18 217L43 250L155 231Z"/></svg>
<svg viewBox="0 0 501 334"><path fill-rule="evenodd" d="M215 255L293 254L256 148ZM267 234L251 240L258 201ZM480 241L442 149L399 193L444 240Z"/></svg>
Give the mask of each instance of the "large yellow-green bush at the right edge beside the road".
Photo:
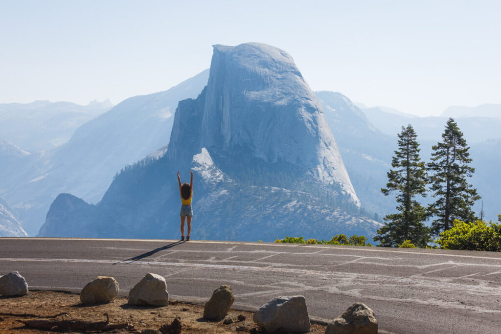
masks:
<svg viewBox="0 0 501 334"><path fill-rule="evenodd" d="M452 228L440 233L436 243L443 249L501 251L501 215L499 221L464 222L456 219Z"/></svg>

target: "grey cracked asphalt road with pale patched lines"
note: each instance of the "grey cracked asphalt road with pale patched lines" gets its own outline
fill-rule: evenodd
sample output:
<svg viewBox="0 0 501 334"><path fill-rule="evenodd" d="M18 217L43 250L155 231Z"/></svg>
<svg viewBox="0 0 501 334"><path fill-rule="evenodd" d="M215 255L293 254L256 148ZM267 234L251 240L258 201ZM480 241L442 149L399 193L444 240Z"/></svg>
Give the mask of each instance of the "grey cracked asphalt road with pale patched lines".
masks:
<svg viewBox="0 0 501 334"><path fill-rule="evenodd" d="M202 301L229 284L235 308L304 295L332 319L361 301L394 333L501 332L501 253L226 241L0 238L0 274L31 289L80 291L98 275L127 294L147 272L171 299Z"/></svg>

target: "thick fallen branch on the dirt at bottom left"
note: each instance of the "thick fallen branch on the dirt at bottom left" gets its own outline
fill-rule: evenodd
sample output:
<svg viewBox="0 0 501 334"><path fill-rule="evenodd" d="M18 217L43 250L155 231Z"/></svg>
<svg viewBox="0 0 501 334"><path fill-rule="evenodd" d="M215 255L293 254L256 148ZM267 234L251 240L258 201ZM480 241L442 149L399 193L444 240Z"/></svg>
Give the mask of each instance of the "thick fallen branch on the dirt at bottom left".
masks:
<svg viewBox="0 0 501 334"><path fill-rule="evenodd" d="M110 323L108 313L106 315L106 321L92 322L92 321L82 321L82 320L18 320L25 324L26 327L35 329L47 329L52 331L62 331L69 332L74 330L114 330L114 329L125 329L134 330L134 325L129 323Z"/></svg>

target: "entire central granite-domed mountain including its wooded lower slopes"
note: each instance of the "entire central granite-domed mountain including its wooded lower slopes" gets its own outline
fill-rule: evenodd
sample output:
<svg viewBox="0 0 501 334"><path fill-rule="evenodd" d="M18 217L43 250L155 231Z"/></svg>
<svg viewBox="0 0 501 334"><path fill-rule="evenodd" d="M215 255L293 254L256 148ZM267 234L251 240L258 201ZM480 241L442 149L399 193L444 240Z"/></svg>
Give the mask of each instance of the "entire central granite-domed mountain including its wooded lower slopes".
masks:
<svg viewBox="0 0 501 334"><path fill-rule="evenodd" d="M167 129L165 131L168 131ZM290 55L215 45L207 86L180 101L164 156L128 166L96 205L60 194L40 236L175 237L177 170L194 172L194 238L373 235L322 106Z"/></svg>

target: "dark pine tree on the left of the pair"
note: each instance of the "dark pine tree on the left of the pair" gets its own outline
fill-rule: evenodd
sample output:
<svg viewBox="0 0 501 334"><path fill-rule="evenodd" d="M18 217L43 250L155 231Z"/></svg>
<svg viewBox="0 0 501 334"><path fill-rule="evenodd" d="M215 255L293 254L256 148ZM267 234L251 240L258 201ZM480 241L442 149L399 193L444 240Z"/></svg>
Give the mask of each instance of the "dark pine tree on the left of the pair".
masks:
<svg viewBox="0 0 501 334"><path fill-rule="evenodd" d="M427 218L426 209L414 198L426 196L427 176L424 162L419 159L419 144L412 126L402 127L398 134L398 150L392 158L386 189L381 192L387 196L396 191L398 213L384 217L385 225L378 229L375 241L381 246L396 246L410 240L420 247L430 241L429 228L423 223Z"/></svg>

